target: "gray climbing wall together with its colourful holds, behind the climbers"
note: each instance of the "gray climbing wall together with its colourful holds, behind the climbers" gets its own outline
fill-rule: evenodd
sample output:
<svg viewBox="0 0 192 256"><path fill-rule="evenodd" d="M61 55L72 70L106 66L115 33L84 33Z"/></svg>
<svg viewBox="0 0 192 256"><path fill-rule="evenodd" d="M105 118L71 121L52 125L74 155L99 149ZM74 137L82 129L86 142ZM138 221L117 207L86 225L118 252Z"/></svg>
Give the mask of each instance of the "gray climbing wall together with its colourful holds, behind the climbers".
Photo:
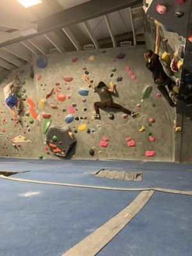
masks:
<svg viewBox="0 0 192 256"><path fill-rule="evenodd" d="M23 67L22 74L17 70L19 92L26 89L20 96L28 97L22 101L22 127L10 119L1 95L1 156L63 159L62 148L74 145L72 159L173 161L173 110L154 87L144 52L145 46L138 45L36 56L34 79L29 77L30 67ZM99 95L83 81L85 74L93 84L115 83L113 100L140 116L108 108L100 111L101 120L93 119L93 102ZM3 83L13 76L14 72ZM17 142L18 136L27 141Z"/></svg>

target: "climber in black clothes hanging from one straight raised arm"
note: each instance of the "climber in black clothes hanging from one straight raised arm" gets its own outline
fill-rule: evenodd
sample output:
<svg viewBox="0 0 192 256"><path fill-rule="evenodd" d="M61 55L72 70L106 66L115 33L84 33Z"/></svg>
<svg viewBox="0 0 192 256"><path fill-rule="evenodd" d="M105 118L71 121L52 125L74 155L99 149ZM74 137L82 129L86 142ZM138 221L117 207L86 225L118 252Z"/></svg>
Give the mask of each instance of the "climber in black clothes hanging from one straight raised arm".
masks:
<svg viewBox="0 0 192 256"><path fill-rule="evenodd" d="M156 28L156 51L148 50L145 52L144 56L147 60L146 67L152 72L152 77L154 79L154 83L157 85L157 88L163 95L163 97L168 101L170 106L174 107L175 103L173 102L168 90L166 90L166 85L168 86L169 92L173 93L172 88L172 80L163 70L163 66L159 61L159 44L160 44L160 36L159 36L160 26L157 25Z"/></svg>

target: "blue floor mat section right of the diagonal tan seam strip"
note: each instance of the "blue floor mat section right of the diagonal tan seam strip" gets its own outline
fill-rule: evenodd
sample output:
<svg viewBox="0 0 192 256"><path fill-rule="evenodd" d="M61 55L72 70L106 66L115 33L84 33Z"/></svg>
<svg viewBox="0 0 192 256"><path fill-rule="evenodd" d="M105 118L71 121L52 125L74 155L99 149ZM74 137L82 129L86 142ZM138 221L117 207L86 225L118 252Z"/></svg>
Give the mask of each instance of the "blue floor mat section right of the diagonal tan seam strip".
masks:
<svg viewBox="0 0 192 256"><path fill-rule="evenodd" d="M155 193L97 256L191 256L192 197Z"/></svg>

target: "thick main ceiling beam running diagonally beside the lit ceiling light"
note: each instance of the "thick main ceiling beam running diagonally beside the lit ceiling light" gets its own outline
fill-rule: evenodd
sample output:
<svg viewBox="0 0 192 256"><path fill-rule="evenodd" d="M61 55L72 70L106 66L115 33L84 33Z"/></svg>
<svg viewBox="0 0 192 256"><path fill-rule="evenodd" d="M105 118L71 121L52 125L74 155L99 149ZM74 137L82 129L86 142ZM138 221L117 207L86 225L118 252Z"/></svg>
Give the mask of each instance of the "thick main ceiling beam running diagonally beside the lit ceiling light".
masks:
<svg viewBox="0 0 192 256"><path fill-rule="evenodd" d="M49 15L43 19L36 20L34 23L38 24L38 33L28 36L21 36L8 42L3 42L0 47L15 44L16 42L28 40L39 35L44 35L54 31L55 29L66 28L70 25L84 22L86 20L94 19L111 12L116 12L124 8L134 6L142 3L142 0L92 0L83 4L79 4L67 10Z"/></svg>

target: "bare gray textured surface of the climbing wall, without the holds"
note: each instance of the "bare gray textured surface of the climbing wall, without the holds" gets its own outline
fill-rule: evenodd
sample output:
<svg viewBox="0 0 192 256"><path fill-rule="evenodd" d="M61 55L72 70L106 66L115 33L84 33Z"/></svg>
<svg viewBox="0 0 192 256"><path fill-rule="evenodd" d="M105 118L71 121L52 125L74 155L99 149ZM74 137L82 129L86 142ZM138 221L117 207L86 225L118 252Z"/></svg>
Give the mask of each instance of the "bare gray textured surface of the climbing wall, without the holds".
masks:
<svg viewBox="0 0 192 256"><path fill-rule="evenodd" d="M116 58L119 52L126 54L123 60ZM73 152L74 159L132 159L141 161L173 161L173 119L174 114L163 97L156 97L157 90L153 89L150 97L141 100L141 91L147 84L153 86L153 81L150 72L145 67L143 58L145 46L124 47L116 49L106 49L106 51L80 51L66 52L63 54L47 54L47 67L36 67L36 59L34 60L35 79L32 81L29 78L29 67L24 67L24 74L19 74L20 79L26 77L26 94L29 99L36 103L35 111L41 116L34 120L33 124L29 124L30 116L23 116L22 122L24 127L19 125L14 126L10 120L10 111L6 106L3 106L3 96L1 95L1 109L3 110L2 117L5 117L7 124L1 124L1 129L6 127L6 131L1 135L1 147L6 145L6 150L1 150L1 156L8 157L38 157L38 154L44 153L45 158L56 158L49 153L44 144L45 134L42 134L42 125L45 118L42 118L42 113L51 114L51 125L69 125L75 133L77 145ZM89 57L94 55L95 60L89 60ZM77 58L76 62L72 59ZM116 61L111 61L111 60ZM129 66L136 76L135 80L127 74L125 67ZM104 81L108 84L113 81L116 84L116 92L113 93L113 99L116 103L122 104L125 108L131 111L140 111L141 116L133 119L131 116L123 118L124 113L113 111L112 109L101 110L101 120L93 120L93 102L99 101L97 93L93 92L92 88L88 88L82 76L84 75L83 67L89 72L88 77L93 79L93 83ZM116 72L111 70L116 68ZM113 77L110 74L113 73ZM8 76L10 81L13 73ZM72 77L72 81L65 82L63 77ZM117 77L122 77L122 81L116 82ZM56 85L60 83L59 85ZM3 85L1 85L3 86ZM40 100L45 99L46 93L54 88L54 94L45 100L45 106L40 106ZM80 89L88 90L88 96L79 95ZM56 92L59 91L60 92ZM60 101L59 97L66 99ZM86 102L83 102L86 99ZM57 109L52 109L50 104L57 105ZM156 104L153 107L152 104ZM30 108L27 102L24 102L26 111ZM74 109L71 108L72 104ZM141 108L136 105L141 104ZM28 104L29 105L29 104ZM84 111L86 108L86 111ZM70 114L74 110L75 113ZM113 112L114 120L108 118L109 113ZM71 124L65 122L67 115L74 115L74 118L79 117L79 120L74 120ZM148 119L154 118L155 122L148 126ZM25 122L26 121L26 122ZM28 131L29 124L31 131ZM144 132L140 132L141 127L145 127ZM83 129L82 131L79 131ZM85 129L84 129L85 128ZM91 132L88 134L87 129ZM150 141L148 133L152 132L155 141ZM10 136L10 133L11 136ZM20 143L20 148L12 146L10 139L15 136L25 136L30 142ZM6 136L8 138L6 139ZM127 145L128 141L125 138L131 136L135 141L134 147ZM103 137L109 137L108 147L101 147L100 141ZM59 138L58 138L59 140ZM21 150L22 148L22 150ZM94 156L89 155L89 150L93 148ZM145 151L155 151L153 157L146 157Z"/></svg>

